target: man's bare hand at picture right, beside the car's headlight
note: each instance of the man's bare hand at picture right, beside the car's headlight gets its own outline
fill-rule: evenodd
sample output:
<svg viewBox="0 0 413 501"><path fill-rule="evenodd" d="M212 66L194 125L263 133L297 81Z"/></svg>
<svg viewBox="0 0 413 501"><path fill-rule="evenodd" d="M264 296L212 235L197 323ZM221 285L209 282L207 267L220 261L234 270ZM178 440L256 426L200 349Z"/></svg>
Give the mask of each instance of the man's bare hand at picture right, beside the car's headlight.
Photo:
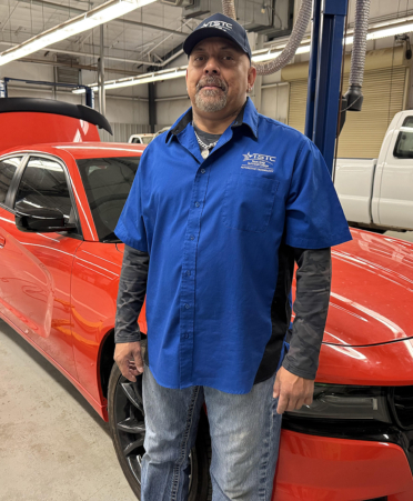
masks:
<svg viewBox="0 0 413 501"><path fill-rule="evenodd" d="M301 409L304 404L310 405L313 401L314 381L312 379L300 378L281 367L276 373L273 397L279 398L276 412Z"/></svg>

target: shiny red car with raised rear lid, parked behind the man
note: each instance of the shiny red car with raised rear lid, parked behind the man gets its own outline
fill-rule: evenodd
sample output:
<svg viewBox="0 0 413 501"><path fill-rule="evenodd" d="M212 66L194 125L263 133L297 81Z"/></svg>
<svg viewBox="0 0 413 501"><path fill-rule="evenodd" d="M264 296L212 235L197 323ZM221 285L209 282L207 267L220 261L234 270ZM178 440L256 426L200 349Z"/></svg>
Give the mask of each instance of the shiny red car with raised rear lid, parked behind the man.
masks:
<svg viewBox="0 0 413 501"><path fill-rule="evenodd" d="M99 142L97 126L85 107L0 100L0 315L109 420L139 498L144 409L113 364L113 229L144 147ZM354 230L334 248L314 402L285 413L273 501L413 500L412 298L412 244ZM209 457L203 418L191 501L211 499Z"/></svg>

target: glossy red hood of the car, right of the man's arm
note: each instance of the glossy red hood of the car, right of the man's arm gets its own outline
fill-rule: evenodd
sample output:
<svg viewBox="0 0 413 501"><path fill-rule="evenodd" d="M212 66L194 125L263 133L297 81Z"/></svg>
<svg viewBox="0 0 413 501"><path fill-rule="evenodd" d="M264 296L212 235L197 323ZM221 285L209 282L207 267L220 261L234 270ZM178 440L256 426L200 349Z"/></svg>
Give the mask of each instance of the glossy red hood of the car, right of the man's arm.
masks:
<svg viewBox="0 0 413 501"><path fill-rule="evenodd" d="M333 248L324 343L361 347L413 338L413 244L353 230Z"/></svg>

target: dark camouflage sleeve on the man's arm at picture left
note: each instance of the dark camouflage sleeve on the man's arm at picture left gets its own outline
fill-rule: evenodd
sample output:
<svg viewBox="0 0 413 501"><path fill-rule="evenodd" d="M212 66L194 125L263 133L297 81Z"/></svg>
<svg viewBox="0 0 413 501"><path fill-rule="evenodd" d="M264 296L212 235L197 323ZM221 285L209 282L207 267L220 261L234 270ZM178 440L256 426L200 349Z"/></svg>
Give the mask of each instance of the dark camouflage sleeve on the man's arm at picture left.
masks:
<svg viewBox="0 0 413 501"><path fill-rule="evenodd" d="M114 321L115 343L141 339L138 317L147 292L148 269L149 254L124 246Z"/></svg>

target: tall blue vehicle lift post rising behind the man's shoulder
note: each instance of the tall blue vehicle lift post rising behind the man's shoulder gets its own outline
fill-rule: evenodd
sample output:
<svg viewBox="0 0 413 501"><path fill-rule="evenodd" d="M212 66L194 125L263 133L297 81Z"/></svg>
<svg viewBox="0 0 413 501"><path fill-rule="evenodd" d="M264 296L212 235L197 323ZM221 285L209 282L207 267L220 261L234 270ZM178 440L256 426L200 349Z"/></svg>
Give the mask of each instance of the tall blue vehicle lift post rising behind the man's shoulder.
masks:
<svg viewBox="0 0 413 501"><path fill-rule="evenodd" d="M305 136L333 172L347 0L314 0Z"/></svg>

